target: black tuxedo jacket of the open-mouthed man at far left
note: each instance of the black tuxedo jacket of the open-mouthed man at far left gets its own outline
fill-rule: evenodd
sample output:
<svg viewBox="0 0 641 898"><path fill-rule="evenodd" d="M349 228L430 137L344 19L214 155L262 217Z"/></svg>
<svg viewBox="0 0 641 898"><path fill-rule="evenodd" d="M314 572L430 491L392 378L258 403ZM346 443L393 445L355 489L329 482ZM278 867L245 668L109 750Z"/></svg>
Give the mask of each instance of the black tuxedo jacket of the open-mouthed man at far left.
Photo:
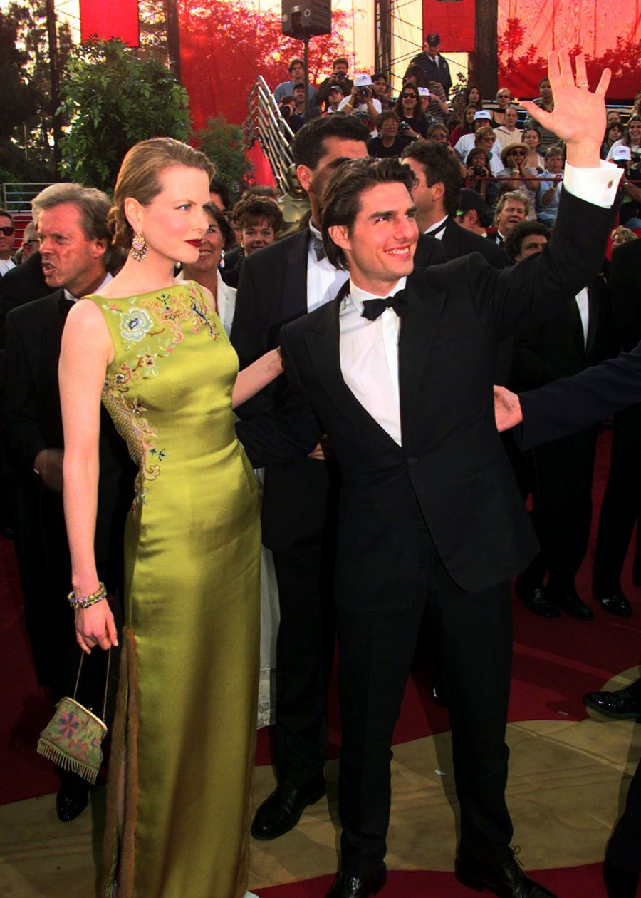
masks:
<svg viewBox="0 0 641 898"><path fill-rule="evenodd" d="M27 480L38 480L33 464L41 449L64 448L58 391L60 342L69 308L64 297L64 291L57 290L13 309L6 319L4 445L14 475ZM134 473L125 441L117 434L107 411L101 409L96 560L106 582L114 582L122 566L125 518L133 498ZM43 507L56 517L56 524L49 521L44 525L59 526L62 498L48 490L45 494Z"/></svg>

